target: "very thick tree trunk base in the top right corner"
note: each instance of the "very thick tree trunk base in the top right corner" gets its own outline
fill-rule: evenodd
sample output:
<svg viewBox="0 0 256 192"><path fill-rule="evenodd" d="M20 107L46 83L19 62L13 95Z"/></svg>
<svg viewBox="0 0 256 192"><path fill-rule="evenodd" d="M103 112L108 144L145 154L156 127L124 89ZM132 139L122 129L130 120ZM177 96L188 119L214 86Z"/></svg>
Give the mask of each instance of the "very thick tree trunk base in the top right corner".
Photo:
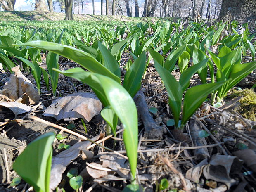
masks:
<svg viewBox="0 0 256 192"><path fill-rule="evenodd" d="M256 17L255 0L222 0L218 19L242 23L250 17Z"/></svg>

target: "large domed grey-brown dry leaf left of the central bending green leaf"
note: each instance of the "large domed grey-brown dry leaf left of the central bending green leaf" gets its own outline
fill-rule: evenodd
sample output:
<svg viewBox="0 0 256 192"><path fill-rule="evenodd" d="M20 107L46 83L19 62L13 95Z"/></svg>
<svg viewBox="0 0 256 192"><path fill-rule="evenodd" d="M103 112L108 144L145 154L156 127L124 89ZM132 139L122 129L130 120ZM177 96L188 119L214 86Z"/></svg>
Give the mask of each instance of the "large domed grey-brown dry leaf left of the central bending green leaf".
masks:
<svg viewBox="0 0 256 192"><path fill-rule="evenodd" d="M83 118L85 122L89 122L101 109L102 103L94 93L78 92L55 100L43 115L65 121Z"/></svg>

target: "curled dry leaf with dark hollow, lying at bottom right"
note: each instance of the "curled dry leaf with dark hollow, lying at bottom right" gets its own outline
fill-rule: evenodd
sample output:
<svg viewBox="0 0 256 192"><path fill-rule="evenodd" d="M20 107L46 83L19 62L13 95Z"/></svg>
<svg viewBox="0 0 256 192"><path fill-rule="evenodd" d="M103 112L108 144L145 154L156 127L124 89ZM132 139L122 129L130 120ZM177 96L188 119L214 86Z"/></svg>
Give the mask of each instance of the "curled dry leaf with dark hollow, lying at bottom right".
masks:
<svg viewBox="0 0 256 192"><path fill-rule="evenodd" d="M230 174L240 173L242 161L235 156L215 155L208 165L204 167L203 173L206 179L215 180L230 186L235 182L230 178Z"/></svg>

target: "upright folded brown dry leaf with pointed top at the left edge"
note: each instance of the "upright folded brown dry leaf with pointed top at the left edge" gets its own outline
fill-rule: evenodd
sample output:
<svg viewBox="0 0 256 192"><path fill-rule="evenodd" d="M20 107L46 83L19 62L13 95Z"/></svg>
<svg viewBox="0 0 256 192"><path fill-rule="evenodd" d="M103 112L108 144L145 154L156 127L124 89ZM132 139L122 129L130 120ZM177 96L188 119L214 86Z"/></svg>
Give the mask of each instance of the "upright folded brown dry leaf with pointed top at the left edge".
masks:
<svg viewBox="0 0 256 192"><path fill-rule="evenodd" d="M8 97L9 101L19 99L21 103L27 105L37 103L40 95L31 81L22 75L19 66L13 67L12 71L14 71L14 74L11 74L9 81L5 83L3 89L0 91L0 100L7 100L6 97Z"/></svg>

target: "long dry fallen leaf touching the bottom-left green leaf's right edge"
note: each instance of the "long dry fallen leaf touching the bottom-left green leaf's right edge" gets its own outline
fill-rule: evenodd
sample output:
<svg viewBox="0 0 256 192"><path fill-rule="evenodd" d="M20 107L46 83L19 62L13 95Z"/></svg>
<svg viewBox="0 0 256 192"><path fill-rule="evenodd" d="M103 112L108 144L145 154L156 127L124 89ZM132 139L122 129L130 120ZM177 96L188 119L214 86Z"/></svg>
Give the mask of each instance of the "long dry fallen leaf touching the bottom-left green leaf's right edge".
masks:
<svg viewBox="0 0 256 192"><path fill-rule="evenodd" d="M91 140L99 140L103 134L93 137ZM62 173L66 170L66 166L73 159L76 159L81 151L87 156L87 159L93 157L93 152L88 151L87 147L91 144L90 141L79 141L69 149L52 157L52 169L50 176L50 189L55 190L62 180Z"/></svg>

